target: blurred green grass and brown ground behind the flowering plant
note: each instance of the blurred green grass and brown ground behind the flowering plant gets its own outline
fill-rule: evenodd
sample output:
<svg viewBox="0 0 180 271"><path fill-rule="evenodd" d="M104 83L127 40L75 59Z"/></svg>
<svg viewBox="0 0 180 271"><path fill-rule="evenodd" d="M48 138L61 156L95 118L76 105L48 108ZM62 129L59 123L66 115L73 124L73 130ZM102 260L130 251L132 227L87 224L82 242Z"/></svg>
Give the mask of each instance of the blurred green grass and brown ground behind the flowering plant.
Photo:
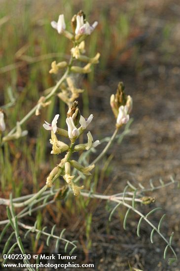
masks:
<svg viewBox="0 0 180 271"><path fill-rule="evenodd" d="M87 54L93 57L96 52L101 53L100 64L93 72L76 78L78 87L85 89L79 99L82 114L85 117L89 113L94 114L96 129L93 124L90 129L96 139L110 135L114 120L109 108L109 98L114 93L117 82L122 80L127 94L133 96L135 118L132 133L125 139L124 145L118 147L120 151L115 152L115 148L111 150L115 158L114 164L111 163L112 156L108 154L102 165L95 169L93 179L87 180L86 188L90 188L93 182L95 190L99 192L106 190L110 193L114 188L121 192L125 184L123 181L127 179L145 184L150 178L166 179L172 174L178 178L178 0L0 0L0 106L12 101L12 105L4 108L7 130L10 131L16 121L21 120L39 97L55 84L58 78L48 73L51 62L69 58L71 45L52 29L50 22L56 21L59 14L64 13L67 28L70 29L72 15L79 9L85 12L89 22L99 22L96 31L86 41ZM44 185L47 174L60 160L60 156L49 155L49 134L43 130L42 123L44 119L50 121L55 113L60 112L61 127L65 127L66 110L63 102L53 98L51 105L43 109L40 116L33 116L23 125L23 130L29 131L28 137L4 144L0 150L0 197L8 198L10 192L13 197L35 193ZM102 129L106 133L102 134ZM161 204L167 203L163 193L159 200ZM178 210L177 196L172 201L174 206L177 204ZM108 236L107 243L111 242L111 238L114 241L116 235L122 234L121 228L114 229L108 224L101 224L97 216L93 220L93 215L96 212L99 214L97 208L95 200L74 200L72 197L66 203L58 202L55 206L47 206L42 212L37 212L38 227L46 225L47 220L51 226L52 219L59 228L67 227L72 238L79 237L83 250L88 251L95 238L93 233L94 236L100 235L96 236L99 242L101 238L104 240ZM167 212L172 217L168 203ZM104 214L100 217L103 218ZM2 219L5 219L5 209L0 206L0 220ZM35 218L29 218L29 222L33 219ZM105 220L108 220L107 215ZM92 226L92 221L97 226ZM122 224L122 214L117 215L114 223L117 221ZM180 233L176 222L171 227ZM178 234L176 238L179 239ZM122 243L122 240L119 242ZM126 242L128 240L123 240L123 243ZM39 242L32 237L30 250L36 251L38 247ZM94 249L97 249L95 243ZM122 252L121 249L119 253ZM159 258L150 262L144 260L147 257L144 249L137 250L131 256L127 247L126 250L123 260L118 259L122 262L121 270L128 270L129 259L133 266L142 269L146 267L146 270L150 265L153 270L158 271L166 268L162 260L159 260L162 253L159 253ZM103 257L103 249L101 253L100 257ZM155 252L152 250L151 256L154 257L153 253ZM110 260L109 266L103 261L103 270L106 270L106 266L111 270Z"/></svg>

